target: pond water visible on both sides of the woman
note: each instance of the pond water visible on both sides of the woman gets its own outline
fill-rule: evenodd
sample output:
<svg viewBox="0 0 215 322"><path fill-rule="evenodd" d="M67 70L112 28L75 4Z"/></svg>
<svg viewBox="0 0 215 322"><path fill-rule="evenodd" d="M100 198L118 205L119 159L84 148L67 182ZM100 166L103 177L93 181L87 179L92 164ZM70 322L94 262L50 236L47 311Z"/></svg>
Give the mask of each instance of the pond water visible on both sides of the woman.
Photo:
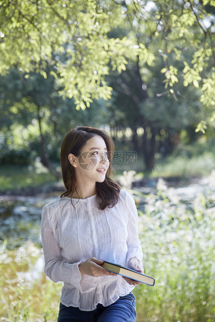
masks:
<svg viewBox="0 0 215 322"><path fill-rule="evenodd" d="M172 193L181 197L181 202L189 203L197 193L207 193L207 182L196 180L189 186L176 186ZM156 194L156 186L135 187L143 194ZM13 250L31 240L37 247L42 247L40 222L45 204L59 197L58 192L37 194L36 196L0 196L0 242L7 239L6 248ZM144 199L140 201L144 210Z"/></svg>

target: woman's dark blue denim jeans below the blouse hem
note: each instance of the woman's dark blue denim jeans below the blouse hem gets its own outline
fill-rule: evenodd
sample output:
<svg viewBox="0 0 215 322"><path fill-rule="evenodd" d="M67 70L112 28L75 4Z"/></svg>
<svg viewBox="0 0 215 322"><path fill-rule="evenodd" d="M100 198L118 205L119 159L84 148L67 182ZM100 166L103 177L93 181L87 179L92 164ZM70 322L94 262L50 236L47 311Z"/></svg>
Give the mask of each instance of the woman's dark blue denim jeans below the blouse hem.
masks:
<svg viewBox="0 0 215 322"><path fill-rule="evenodd" d="M57 322L135 322L136 300L132 292L104 307L98 303L93 311L82 311L60 303Z"/></svg>

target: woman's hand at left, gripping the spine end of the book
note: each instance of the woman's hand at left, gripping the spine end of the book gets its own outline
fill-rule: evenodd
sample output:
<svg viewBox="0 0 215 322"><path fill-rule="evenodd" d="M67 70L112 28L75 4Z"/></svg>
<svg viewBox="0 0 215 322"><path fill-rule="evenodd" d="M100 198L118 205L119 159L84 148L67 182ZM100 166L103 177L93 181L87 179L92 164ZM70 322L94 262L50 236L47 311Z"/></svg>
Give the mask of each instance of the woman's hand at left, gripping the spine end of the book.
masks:
<svg viewBox="0 0 215 322"><path fill-rule="evenodd" d="M105 270L102 266L103 260L98 260L95 257L88 258L84 262L78 264L79 271L82 275L99 277L103 275L116 276L117 274Z"/></svg>

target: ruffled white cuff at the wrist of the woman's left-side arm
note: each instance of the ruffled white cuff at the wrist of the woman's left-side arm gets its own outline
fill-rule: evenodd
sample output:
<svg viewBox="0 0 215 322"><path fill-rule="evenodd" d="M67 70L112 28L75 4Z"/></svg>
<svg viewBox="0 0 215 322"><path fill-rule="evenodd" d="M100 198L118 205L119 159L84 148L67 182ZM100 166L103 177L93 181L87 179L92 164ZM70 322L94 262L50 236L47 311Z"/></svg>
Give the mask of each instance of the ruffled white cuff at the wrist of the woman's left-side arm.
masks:
<svg viewBox="0 0 215 322"><path fill-rule="evenodd" d="M96 287L97 279L96 277L83 275L81 276L81 272L78 268L78 265L82 263L84 260L80 260L75 263L73 266L72 272L72 281L71 284L74 285L77 289L80 290L81 293L90 292Z"/></svg>

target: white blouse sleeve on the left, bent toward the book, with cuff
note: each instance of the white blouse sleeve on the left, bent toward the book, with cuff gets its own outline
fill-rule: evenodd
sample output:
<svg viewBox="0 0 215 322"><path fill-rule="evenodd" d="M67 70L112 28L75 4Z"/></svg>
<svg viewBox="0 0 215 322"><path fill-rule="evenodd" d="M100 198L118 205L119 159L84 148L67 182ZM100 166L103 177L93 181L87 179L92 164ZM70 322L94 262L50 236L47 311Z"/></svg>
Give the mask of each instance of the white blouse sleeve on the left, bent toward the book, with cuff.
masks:
<svg viewBox="0 0 215 322"><path fill-rule="evenodd" d="M56 233L56 232L55 232ZM67 282L84 292L90 292L96 287L96 278L91 276L82 276L77 263L70 264L64 260L61 254L61 247L54 237L54 231L51 227L49 209L43 207L41 220L41 239L44 251L45 268L44 273L53 282Z"/></svg>

